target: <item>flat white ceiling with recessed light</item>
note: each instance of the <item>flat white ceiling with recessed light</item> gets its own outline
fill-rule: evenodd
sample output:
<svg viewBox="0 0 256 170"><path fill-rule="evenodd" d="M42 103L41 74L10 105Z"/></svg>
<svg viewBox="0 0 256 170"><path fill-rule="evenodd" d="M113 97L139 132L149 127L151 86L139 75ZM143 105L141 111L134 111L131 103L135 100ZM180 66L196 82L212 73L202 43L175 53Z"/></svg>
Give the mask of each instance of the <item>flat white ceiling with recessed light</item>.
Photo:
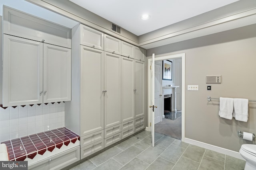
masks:
<svg viewBox="0 0 256 170"><path fill-rule="evenodd" d="M238 0L70 0L120 27L142 35ZM149 20L141 20L142 14Z"/></svg>

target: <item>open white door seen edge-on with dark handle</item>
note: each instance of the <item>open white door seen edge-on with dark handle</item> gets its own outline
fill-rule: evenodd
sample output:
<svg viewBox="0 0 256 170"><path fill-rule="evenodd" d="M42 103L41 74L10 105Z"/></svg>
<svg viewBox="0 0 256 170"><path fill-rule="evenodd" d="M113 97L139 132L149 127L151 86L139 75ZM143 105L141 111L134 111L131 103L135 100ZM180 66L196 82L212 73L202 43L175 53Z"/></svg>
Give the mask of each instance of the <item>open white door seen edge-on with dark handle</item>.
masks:
<svg viewBox="0 0 256 170"><path fill-rule="evenodd" d="M152 61L151 61L151 103L150 106L151 107L151 123L150 123L150 127L151 127L151 137L152 137L152 147L155 146L155 116L154 116L154 108L157 106L155 105L155 54L152 55Z"/></svg>

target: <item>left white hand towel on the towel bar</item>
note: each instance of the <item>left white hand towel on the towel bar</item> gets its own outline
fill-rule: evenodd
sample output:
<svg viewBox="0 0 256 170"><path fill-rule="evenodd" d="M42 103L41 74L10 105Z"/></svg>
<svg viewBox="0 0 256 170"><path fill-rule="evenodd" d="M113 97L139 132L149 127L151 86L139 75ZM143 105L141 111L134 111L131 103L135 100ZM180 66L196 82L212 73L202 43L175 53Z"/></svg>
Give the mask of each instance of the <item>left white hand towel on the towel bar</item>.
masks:
<svg viewBox="0 0 256 170"><path fill-rule="evenodd" d="M220 117L226 119L232 119L232 113L234 109L234 100L233 98L222 98L220 97Z"/></svg>

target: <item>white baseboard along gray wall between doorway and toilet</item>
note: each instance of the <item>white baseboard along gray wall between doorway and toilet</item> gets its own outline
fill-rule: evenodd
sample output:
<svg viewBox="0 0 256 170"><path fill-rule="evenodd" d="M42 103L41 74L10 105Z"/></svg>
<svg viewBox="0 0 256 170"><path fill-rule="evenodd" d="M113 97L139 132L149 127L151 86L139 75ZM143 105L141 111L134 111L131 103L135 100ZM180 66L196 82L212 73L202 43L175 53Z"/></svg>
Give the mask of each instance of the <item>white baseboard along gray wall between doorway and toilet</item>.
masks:
<svg viewBox="0 0 256 170"><path fill-rule="evenodd" d="M193 139L188 139L188 138L185 138L184 142L244 160L244 158L242 158L242 156L240 155L239 152L235 152L233 150L224 149L224 148L221 148L221 147L217 147L217 146L214 146L214 145L210 145L210 144L207 144L207 143L195 141Z"/></svg>

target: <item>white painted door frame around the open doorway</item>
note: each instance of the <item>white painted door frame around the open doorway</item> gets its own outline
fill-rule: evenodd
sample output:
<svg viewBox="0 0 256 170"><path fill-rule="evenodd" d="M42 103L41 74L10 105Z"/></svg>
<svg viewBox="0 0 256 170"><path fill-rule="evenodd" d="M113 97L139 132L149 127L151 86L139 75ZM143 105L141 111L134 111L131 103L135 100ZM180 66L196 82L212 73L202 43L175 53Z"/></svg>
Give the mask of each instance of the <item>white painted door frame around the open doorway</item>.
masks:
<svg viewBox="0 0 256 170"><path fill-rule="evenodd" d="M178 54L178 55L168 55L164 57L156 57L154 60L155 61L162 61L162 60L168 60L168 59L175 59L175 58L181 58L181 80L182 80L182 89L181 89L181 96L182 96L182 102L181 102L181 110L182 110L182 116L181 116L181 122L182 122L182 127L181 127L181 140L184 141L185 138L185 107L184 107L184 102L185 102L185 54ZM150 75L150 65L152 64L152 59L148 59L148 96L151 96L151 75ZM154 67L155 68L155 67ZM162 90L162 89L161 89ZM148 98L148 104L150 105L151 98ZM158 102L155 102L157 104ZM164 107L162 107L164 108ZM154 126L151 123L151 117L152 115L151 109L148 107L148 125ZM161 117L162 118L162 117ZM149 131L154 128L147 128Z"/></svg>

